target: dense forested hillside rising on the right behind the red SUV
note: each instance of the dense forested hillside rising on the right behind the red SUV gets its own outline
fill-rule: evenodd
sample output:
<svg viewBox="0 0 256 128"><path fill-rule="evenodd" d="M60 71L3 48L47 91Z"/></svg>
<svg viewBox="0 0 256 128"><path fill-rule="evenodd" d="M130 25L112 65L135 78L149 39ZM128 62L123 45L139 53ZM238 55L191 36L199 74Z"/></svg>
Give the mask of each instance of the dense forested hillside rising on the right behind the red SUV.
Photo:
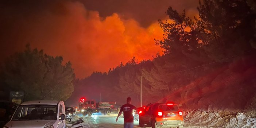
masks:
<svg viewBox="0 0 256 128"><path fill-rule="evenodd" d="M69 105L85 96L97 101L143 105L174 101L186 109L253 109L256 106L256 2L203 0L199 18L171 7L169 19L159 20L164 49L153 60L133 57L106 73L94 72L74 82ZM114 58L113 58L114 59ZM111 60L110 60L111 61Z"/></svg>

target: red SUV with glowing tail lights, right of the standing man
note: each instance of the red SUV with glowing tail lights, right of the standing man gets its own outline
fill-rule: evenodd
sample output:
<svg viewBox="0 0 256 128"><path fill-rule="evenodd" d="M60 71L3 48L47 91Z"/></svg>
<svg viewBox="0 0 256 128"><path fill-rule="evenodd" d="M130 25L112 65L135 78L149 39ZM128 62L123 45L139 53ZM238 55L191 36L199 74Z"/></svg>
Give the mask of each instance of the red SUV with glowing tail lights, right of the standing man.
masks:
<svg viewBox="0 0 256 128"><path fill-rule="evenodd" d="M150 103L146 110L139 115L140 127L144 124L151 125L152 128L178 127L184 125L183 115L177 104L173 103Z"/></svg>

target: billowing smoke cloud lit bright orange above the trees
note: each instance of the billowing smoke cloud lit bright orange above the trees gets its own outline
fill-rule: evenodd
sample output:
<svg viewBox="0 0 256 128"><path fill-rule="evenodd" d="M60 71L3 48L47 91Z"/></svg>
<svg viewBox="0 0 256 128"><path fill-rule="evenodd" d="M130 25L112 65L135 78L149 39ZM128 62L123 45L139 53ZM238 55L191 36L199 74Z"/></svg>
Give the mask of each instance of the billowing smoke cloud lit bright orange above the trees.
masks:
<svg viewBox="0 0 256 128"><path fill-rule="evenodd" d="M47 11L18 21L13 27L17 28L15 39L8 39L20 43L17 51L30 43L49 55L62 55L65 61L71 61L79 78L93 71L108 71L133 56L141 61L162 53L154 44L154 38L162 39L163 35L157 22L144 28L117 13L104 19L79 2L53 4Z"/></svg>

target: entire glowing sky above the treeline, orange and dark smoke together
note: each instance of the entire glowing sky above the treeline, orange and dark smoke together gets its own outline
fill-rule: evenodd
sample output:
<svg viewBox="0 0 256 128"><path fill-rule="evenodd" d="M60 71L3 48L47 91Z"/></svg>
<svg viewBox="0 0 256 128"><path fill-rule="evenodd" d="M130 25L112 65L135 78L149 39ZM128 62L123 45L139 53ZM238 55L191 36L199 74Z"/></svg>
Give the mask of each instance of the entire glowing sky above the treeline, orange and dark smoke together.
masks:
<svg viewBox="0 0 256 128"><path fill-rule="evenodd" d="M30 43L71 61L79 78L93 71L152 59L162 49L158 19L169 6L193 17L199 0L27 0L0 2L0 62Z"/></svg>

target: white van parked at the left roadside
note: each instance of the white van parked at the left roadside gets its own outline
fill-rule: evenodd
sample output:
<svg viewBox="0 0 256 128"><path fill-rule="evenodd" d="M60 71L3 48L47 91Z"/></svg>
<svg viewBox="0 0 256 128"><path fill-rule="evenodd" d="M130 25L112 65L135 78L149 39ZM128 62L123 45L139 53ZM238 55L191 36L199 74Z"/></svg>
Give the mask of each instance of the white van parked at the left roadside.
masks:
<svg viewBox="0 0 256 128"><path fill-rule="evenodd" d="M38 100L23 102L3 128L65 128L63 101Z"/></svg>

